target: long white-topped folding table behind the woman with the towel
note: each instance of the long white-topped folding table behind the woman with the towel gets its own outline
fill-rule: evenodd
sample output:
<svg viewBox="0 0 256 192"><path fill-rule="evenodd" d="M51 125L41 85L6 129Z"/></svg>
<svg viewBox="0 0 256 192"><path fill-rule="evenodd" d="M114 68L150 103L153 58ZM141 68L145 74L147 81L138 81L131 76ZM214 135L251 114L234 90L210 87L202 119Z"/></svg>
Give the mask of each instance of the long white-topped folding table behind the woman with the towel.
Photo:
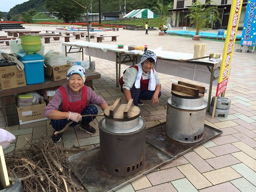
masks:
<svg viewBox="0 0 256 192"><path fill-rule="evenodd" d="M116 62L116 86L119 86L118 80L121 77L121 64L134 65L141 59L143 52L137 53L128 50L127 46L124 49L118 49L117 45L99 44L97 42L62 42L65 46L65 54L72 53L72 49L81 48L80 52L83 59L83 54L107 59ZM67 49L67 46L70 48ZM102 50L107 50L103 52ZM157 72L178 77L185 77L191 80L208 83L209 95L207 111L209 111L212 85L217 85L218 76L220 73L221 61L211 61L208 58L198 59L188 62L180 61L180 59L193 58L193 54L161 51L157 53L157 65L154 67Z"/></svg>

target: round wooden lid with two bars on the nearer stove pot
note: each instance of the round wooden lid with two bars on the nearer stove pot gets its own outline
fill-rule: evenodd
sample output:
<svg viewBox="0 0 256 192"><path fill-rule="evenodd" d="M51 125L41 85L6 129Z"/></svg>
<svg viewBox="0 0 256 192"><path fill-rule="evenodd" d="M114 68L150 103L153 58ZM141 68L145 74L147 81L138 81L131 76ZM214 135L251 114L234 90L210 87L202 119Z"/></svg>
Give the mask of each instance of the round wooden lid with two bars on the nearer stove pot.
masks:
<svg viewBox="0 0 256 192"><path fill-rule="evenodd" d="M134 106L133 99L130 99L127 104L121 104L121 98L118 98L113 105L104 110L104 116L117 121L128 121L138 118L140 109Z"/></svg>

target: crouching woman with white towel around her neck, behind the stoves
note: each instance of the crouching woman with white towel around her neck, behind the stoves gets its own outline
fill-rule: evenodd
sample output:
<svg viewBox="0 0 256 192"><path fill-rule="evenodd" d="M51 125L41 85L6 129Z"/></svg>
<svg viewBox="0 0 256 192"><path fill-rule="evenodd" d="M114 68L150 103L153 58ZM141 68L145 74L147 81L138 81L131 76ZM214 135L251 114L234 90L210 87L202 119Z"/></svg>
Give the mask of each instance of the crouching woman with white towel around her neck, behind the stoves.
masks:
<svg viewBox="0 0 256 192"><path fill-rule="evenodd" d="M143 105L140 100L151 100L152 104L159 104L158 98L161 96L161 82L154 70L157 56L147 50L141 57L140 62L126 69L119 79L120 90L128 102L133 99L134 105Z"/></svg>

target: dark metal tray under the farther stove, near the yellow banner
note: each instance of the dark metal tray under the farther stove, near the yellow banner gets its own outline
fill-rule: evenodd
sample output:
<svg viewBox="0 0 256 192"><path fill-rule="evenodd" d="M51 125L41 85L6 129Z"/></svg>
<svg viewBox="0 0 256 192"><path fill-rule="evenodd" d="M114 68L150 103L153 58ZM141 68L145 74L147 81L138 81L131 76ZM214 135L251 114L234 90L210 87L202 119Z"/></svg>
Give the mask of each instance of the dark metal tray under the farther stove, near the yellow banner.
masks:
<svg viewBox="0 0 256 192"><path fill-rule="evenodd" d="M166 154L174 157L175 159L185 153L193 150L197 146L211 140L214 137L222 134L222 131L215 129L209 125L204 124L203 139L197 143L181 143L170 139L166 133L166 124L162 123L152 129L146 131L146 141L159 148Z"/></svg>

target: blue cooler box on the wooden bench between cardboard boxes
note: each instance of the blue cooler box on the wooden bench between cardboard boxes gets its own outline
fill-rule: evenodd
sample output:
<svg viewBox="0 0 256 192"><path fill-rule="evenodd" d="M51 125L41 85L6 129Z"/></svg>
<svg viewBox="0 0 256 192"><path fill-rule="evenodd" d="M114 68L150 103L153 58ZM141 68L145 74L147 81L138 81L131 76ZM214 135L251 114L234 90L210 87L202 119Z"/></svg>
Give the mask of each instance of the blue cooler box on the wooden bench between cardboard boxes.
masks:
<svg viewBox="0 0 256 192"><path fill-rule="evenodd" d="M27 84L45 82L44 57L38 53L18 52L18 59L24 64Z"/></svg>

